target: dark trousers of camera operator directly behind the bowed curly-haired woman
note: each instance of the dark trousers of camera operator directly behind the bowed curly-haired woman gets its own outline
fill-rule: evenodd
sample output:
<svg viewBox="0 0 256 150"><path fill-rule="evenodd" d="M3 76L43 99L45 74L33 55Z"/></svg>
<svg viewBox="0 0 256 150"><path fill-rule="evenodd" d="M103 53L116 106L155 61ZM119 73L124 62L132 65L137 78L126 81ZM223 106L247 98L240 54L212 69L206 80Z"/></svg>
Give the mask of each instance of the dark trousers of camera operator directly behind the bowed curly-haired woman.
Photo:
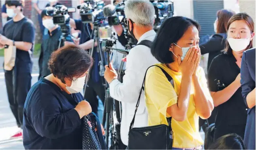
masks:
<svg viewBox="0 0 256 150"><path fill-rule="evenodd" d="M103 85L103 79L100 77L98 82L94 82L92 78L89 79L86 90L85 90L85 100L90 103L92 107L92 112L98 115L98 98L102 101L104 105L105 102L105 86Z"/></svg>

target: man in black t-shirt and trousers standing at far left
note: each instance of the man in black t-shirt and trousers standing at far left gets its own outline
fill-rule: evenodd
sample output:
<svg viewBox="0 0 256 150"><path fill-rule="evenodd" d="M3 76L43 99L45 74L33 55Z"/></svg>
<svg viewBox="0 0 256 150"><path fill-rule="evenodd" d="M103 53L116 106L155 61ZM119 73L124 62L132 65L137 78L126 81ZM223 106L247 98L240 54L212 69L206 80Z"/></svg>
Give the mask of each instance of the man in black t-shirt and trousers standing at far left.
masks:
<svg viewBox="0 0 256 150"><path fill-rule="evenodd" d="M11 71L4 70L4 76L11 110L18 127L22 128L23 106L31 87L31 57L35 28L32 21L22 13L21 0L6 0L5 4L13 19L3 27L0 34L0 49L10 45L17 48L15 66ZM22 137L22 131L13 137Z"/></svg>

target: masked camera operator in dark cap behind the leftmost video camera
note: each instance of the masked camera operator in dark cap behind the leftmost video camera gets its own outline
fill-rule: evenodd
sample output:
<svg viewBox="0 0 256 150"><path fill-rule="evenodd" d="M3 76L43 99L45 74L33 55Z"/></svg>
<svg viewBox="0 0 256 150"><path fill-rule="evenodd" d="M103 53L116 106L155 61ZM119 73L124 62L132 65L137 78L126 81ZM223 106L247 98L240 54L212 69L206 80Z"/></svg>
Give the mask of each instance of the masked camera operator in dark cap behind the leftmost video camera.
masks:
<svg viewBox="0 0 256 150"><path fill-rule="evenodd" d="M41 53L39 56L39 77L47 76L51 74L48 69L48 60L51 53L64 45L61 40L62 31L59 25L53 23L53 17L47 13L47 11L53 10L53 7L47 7L41 12L43 26L48 30L46 35L43 35L43 42L41 44Z"/></svg>

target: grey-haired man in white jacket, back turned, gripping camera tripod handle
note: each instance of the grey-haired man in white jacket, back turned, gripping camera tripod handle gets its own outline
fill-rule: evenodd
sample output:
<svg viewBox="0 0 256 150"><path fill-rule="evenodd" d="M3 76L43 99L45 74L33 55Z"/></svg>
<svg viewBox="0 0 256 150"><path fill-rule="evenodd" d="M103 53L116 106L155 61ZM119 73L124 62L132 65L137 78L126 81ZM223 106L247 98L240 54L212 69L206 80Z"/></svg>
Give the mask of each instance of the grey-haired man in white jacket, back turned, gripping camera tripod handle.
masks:
<svg viewBox="0 0 256 150"><path fill-rule="evenodd" d="M153 30L155 9L147 0L129 0L125 4L124 12L127 18L128 30L132 37L140 43L143 40L153 41L156 32ZM105 66L105 79L110 86L110 96L122 102L121 139L128 145L128 131L139 92L143 82L145 71L151 65L158 63L150 52L150 48L138 45L132 48L127 56L126 71L123 83L117 80L117 73L113 66ZM144 91L142 93L144 94ZM148 113L144 96L137 110L134 127L147 126Z"/></svg>

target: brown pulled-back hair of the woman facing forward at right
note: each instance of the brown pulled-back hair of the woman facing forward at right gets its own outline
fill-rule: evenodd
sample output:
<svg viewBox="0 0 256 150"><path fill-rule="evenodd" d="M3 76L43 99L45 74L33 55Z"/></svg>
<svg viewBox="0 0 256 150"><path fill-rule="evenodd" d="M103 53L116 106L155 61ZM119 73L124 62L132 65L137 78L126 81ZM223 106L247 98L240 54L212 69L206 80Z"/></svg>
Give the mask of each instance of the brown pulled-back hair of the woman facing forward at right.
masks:
<svg viewBox="0 0 256 150"><path fill-rule="evenodd" d="M250 17L247 13L238 13L236 15L233 15L229 21L228 21L228 26L227 26L227 30L229 28L229 26L231 25L231 23L233 23L234 21L237 20L244 20L248 27L250 28L251 33L254 32L254 21L252 20L252 17ZM246 50L252 48L252 41L250 41L250 44L247 46ZM226 46L225 49L223 50L225 54L232 54L232 49L228 43L228 41L226 41Z"/></svg>

